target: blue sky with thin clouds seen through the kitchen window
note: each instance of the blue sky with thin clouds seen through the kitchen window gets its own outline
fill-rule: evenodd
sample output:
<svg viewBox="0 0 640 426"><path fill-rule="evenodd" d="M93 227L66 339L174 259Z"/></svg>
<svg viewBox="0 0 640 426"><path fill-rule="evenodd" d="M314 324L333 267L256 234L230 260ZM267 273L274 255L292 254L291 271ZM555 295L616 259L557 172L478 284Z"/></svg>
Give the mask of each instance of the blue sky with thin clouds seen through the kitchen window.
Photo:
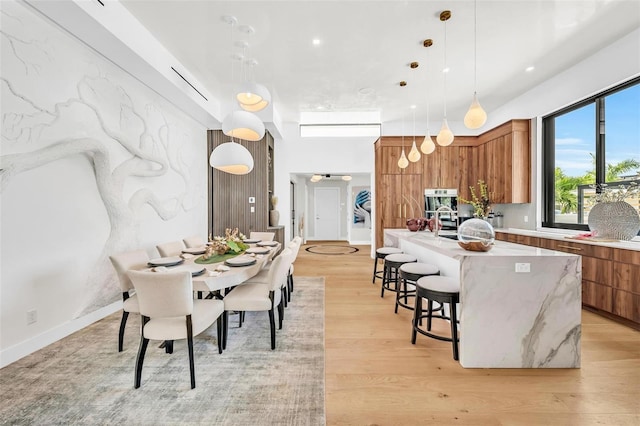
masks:
<svg viewBox="0 0 640 426"><path fill-rule="evenodd" d="M640 161L640 84L613 93L605 100L606 161ZM595 105L556 118L556 167L568 176L593 169Z"/></svg>

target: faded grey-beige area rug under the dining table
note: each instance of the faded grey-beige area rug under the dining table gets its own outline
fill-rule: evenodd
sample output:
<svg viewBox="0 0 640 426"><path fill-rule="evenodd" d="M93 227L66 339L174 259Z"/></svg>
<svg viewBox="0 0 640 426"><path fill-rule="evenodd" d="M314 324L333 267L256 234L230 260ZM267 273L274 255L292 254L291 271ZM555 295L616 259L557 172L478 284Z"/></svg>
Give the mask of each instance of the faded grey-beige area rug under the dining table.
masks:
<svg viewBox="0 0 640 426"><path fill-rule="evenodd" d="M276 350L268 315L230 318L218 354L215 325L194 340L196 388L186 343L149 345L133 388L140 317L117 351L111 315L0 370L0 423L12 425L323 425L324 278L296 277Z"/></svg>

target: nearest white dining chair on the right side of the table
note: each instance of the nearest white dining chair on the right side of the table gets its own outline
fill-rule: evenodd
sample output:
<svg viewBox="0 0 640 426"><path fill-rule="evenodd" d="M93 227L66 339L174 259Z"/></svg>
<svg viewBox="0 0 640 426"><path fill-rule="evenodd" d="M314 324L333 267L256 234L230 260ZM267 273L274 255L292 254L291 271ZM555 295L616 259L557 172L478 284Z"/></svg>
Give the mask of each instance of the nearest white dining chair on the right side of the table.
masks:
<svg viewBox="0 0 640 426"><path fill-rule="evenodd" d="M269 268L269 279L267 283L244 283L234 287L223 299L225 325L228 323L228 313L230 311L255 312L268 311L269 327L271 330L271 349L276 348L276 328L275 310L278 309L278 329L282 328L284 317L283 286L287 283L287 271L290 266L291 250L285 249L273 260ZM226 348L227 327L223 347Z"/></svg>

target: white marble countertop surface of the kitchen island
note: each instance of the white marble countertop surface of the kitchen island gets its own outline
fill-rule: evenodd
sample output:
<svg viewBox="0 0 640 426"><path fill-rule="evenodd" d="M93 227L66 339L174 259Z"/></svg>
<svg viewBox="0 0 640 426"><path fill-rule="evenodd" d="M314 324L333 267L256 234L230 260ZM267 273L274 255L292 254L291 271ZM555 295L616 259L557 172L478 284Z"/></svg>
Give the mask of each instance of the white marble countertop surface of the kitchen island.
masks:
<svg viewBox="0 0 640 426"><path fill-rule="evenodd" d="M441 235L446 233L441 233ZM391 238L389 238L391 237ZM477 252L465 250L458 245L456 240L438 237L430 231L411 232L406 229L385 229L385 245L397 247L397 241L391 241L393 237L404 238L415 244L427 247L432 251L438 252L445 256L460 259L468 256L483 257L557 257L557 256L577 256L572 253L564 253L560 251L548 250L538 247L525 246L522 244L509 243L506 241L496 241L491 250L486 252ZM389 240L389 241L387 241Z"/></svg>

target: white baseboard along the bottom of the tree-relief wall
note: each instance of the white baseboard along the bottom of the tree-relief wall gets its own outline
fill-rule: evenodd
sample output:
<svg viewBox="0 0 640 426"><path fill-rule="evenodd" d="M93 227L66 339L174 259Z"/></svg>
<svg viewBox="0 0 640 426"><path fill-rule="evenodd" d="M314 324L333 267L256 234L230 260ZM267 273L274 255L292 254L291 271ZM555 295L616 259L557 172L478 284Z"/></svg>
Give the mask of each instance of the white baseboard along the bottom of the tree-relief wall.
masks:
<svg viewBox="0 0 640 426"><path fill-rule="evenodd" d="M114 302L108 306L98 309L82 318L71 320L65 324L62 324L56 328L45 331L29 340L13 345L7 349L0 351L0 368L24 358L25 356L34 353L35 351L44 348L52 343L57 342L63 337L67 337L70 334L75 333L78 330L85 328L86 326L93 324L102 318L111 315L114 312L122 309L122 302ZM114 338L114 345L117 345L117 337ZM115 346L114 346L115 347Z"/></svg>

